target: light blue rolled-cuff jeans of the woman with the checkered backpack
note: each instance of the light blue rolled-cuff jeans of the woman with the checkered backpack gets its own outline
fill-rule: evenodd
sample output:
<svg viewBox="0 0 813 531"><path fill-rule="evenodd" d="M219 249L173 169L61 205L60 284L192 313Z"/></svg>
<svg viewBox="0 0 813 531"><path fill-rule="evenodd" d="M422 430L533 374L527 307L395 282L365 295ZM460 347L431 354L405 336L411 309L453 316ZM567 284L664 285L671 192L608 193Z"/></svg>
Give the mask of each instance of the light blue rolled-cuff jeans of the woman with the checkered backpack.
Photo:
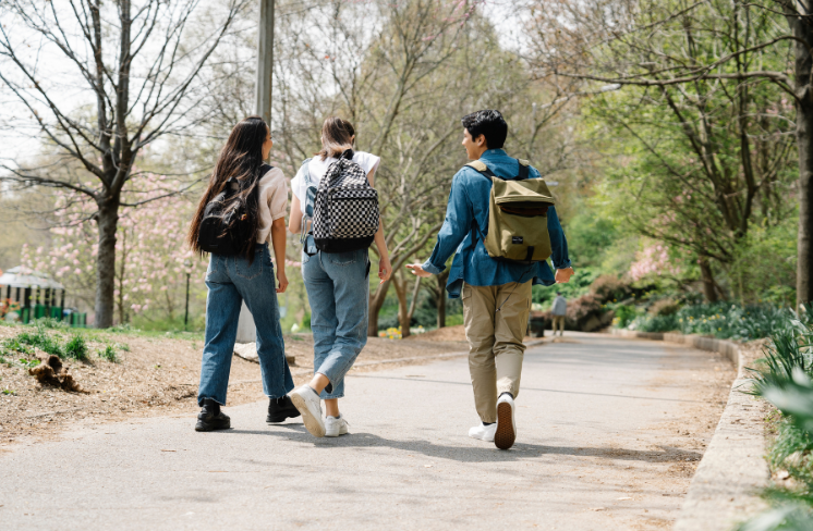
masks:
<svg viewBox="0 0 813 531"><path fill-rule="evenodd" d="M314 373L330 380L323 399L344 396L344 374L367 343L368 275L367 249L302 254L314 333Z"/></svg>

